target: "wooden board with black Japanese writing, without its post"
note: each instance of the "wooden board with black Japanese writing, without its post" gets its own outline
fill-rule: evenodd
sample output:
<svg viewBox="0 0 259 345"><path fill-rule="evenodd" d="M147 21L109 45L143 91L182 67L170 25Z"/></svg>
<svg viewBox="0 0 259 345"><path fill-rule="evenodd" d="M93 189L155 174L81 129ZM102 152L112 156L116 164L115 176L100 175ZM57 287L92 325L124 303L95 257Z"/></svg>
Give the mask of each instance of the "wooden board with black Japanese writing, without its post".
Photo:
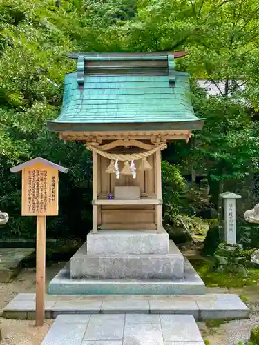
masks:
<svg viewBox="0 0 259 345"><path fill-rule="evenodd" d="M21 215L58 215L59 172L36 163L22 169Z"/></svg>

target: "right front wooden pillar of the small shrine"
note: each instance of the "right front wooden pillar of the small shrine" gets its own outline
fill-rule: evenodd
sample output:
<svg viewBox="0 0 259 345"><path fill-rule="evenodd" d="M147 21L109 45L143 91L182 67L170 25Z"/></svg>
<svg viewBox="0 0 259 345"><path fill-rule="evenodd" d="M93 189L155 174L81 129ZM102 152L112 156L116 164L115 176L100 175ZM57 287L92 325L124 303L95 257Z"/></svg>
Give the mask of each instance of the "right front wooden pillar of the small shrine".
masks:
<svg viewBox="0 0 259 345"><path fill-rule="evenodd" d="M162 200L162 177L161 177L161 150L155 152L155 194L158 200ZM157 233L162 231L162 204L155 205L155 222Z"/></svg>

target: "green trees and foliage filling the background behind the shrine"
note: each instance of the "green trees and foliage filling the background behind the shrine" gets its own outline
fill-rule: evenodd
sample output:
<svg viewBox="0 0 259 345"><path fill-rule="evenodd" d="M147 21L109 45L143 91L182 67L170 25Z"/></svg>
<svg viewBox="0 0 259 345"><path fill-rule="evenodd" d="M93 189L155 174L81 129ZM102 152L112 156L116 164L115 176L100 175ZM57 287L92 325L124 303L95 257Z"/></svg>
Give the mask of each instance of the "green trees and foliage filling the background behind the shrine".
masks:
<svg viewBox="0 0 259 345"><path fill-rule="evenodd" d="M90 230L88 152L46 130L46 121L61 106L64 75L75 70L68 52L188 50L177 68L191 73L193 106L206 121L191 145L174 146L182 157L178 165L162 162L164 224L174 224L180 211L193 217L211 208L209 198L194 187L188 205L182 204L184 158L207 172L209 184L258 171L257 27L253 0L64 0L59 7L54 0L1 1L0 208L10 214L3 235L35 236L35 219L20 217L20 176L9 169L37 156L70 168L60 179L59 216L48 219L48 235L85 237ZM209 79L220 95L208 96L195 86L197 78ZM166 159L171 162L173 155Z"/></svg>

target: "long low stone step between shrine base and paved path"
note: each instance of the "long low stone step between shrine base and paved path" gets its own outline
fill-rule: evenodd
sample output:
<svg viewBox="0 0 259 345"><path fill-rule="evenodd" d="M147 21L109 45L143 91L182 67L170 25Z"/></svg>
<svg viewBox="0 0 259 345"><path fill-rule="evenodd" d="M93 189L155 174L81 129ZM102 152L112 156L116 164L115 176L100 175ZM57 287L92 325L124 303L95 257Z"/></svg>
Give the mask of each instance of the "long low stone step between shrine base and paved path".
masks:
<svg viewBox="0 0 259 345"><path fill-rule="evenodd" d="M240 319L249 309L238 295L46 295L46 318L59 314L187 314L197 320ZM21 293L3 308L8 319L35 319L35 294Z"/></svg>

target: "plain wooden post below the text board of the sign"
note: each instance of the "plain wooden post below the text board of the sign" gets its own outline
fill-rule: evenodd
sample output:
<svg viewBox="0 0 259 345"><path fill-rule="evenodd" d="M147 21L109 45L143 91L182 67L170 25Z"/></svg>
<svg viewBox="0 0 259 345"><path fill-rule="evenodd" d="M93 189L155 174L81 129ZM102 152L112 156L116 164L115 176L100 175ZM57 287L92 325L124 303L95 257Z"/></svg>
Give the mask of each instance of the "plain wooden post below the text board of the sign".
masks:
<svg viewBox="0 0 259 345"><path fill-rule="evenodd" d="M45 319L46 216L37 216L36 239L36 326Z"/></svg>

